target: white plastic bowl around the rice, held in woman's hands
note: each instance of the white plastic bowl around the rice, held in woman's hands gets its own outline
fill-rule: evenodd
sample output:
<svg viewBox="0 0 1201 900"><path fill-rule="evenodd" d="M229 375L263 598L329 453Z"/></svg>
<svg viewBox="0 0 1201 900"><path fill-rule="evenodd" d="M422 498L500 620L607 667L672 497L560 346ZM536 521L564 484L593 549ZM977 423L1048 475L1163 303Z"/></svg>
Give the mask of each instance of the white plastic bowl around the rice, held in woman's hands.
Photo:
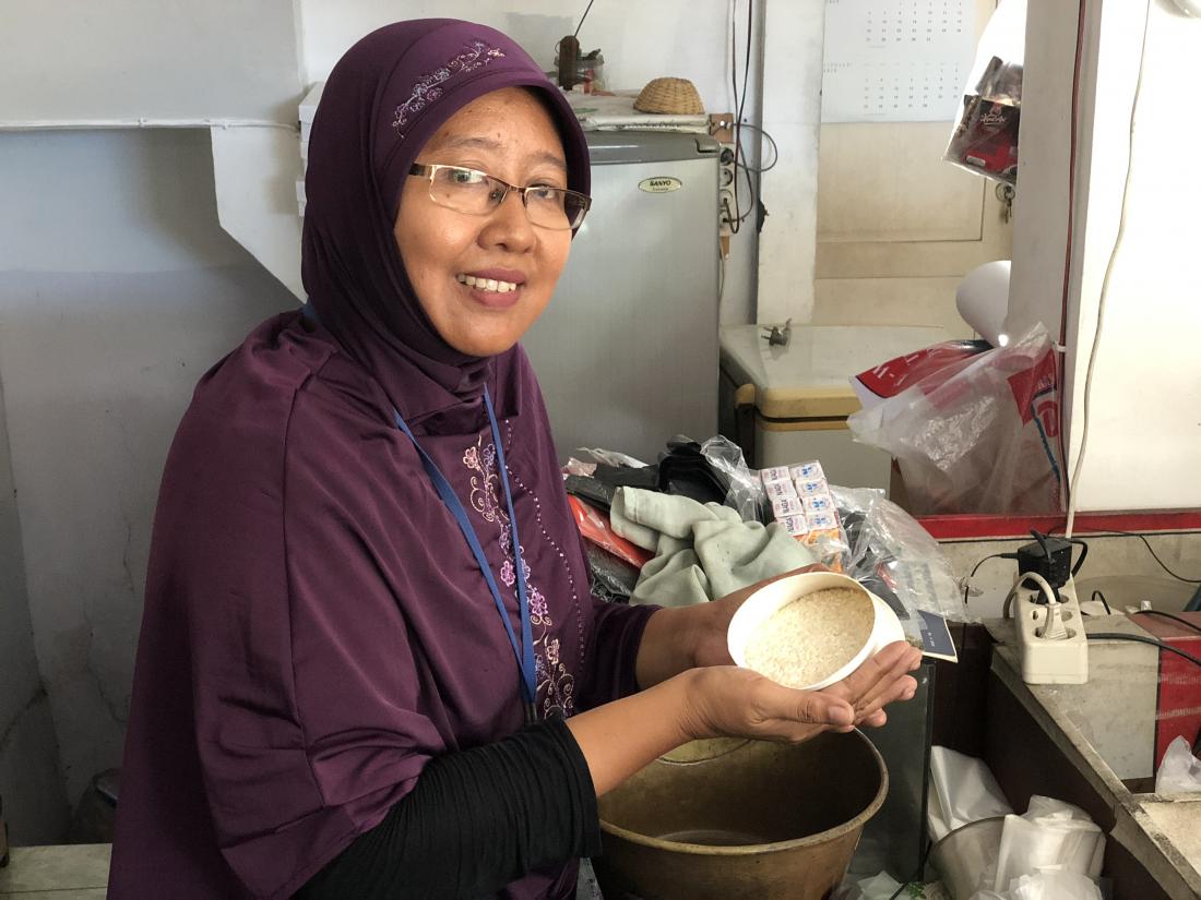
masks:
<svg viewBox="0 0 1201 900"><path fill-rule="evenodd" d="M825 590L827 588L850 588L858 590L871 601L876 611L876 619L867 641L849 662L817 684L807 685L803 690L815 691L827 688L835 682L841 682L864 665L870 656L874 656L884 649L886 644L906 640L904 629L901 626L901 619L897 618L896 613L892 612L888 604L854 578L848 578L846 575L837 575L836 572L802 572L775 581L746 599L742 606L739 607L739 611L734 613L734 618L730 619L730 628L727 631L725 640L730 656L734 658L737 665L748 668L746 662L746 646L755 629L770 619L785 604L806 594L812 594L815 590Z"/></svg>

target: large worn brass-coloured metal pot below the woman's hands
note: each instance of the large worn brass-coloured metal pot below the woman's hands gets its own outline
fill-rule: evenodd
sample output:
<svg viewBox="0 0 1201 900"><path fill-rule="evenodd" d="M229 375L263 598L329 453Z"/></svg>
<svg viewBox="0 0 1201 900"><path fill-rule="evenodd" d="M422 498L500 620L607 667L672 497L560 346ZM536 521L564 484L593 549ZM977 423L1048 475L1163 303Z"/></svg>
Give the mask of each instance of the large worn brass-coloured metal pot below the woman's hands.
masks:
<svg viewBox="0 0 1201 900"><path fill-rule="evenodd" d="M697 742L600 798L605 900L824 900L888 793L860 732Z"/></svg>

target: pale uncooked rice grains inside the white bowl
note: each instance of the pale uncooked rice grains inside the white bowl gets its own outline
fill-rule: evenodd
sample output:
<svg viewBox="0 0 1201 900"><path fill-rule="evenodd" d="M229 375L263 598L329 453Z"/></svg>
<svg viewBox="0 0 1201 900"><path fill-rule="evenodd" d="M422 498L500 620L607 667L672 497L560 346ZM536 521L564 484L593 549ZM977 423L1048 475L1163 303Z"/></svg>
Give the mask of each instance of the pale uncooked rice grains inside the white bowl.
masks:
<svg viewBox="0 0 1201 900"><path fill-rule="evenodd" d="M830 587L789 600L749 634L746 665L789 688L808 688L850 662L872 637L871 598Z"/></svg>

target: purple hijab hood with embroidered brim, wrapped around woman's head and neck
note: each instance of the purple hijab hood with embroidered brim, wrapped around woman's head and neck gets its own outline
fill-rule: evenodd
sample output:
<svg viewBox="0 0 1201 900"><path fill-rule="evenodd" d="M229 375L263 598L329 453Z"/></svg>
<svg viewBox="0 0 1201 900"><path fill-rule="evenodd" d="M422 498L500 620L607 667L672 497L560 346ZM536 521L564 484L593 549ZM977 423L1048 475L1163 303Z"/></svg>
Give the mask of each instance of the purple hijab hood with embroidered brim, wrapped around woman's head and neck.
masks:
<svg viewBox="0 0 1201 900"><path fill-rule="evenodd" d="M514 86L544 98L563 142L568 186L587 193L588 148L574 113L525 50L490 28L454 19L382 28L351 48L322 94L305 179L305 290L410 425L478 401L492 361L447 346L418 305L393 238L401 187L447 119Z"/></svg>

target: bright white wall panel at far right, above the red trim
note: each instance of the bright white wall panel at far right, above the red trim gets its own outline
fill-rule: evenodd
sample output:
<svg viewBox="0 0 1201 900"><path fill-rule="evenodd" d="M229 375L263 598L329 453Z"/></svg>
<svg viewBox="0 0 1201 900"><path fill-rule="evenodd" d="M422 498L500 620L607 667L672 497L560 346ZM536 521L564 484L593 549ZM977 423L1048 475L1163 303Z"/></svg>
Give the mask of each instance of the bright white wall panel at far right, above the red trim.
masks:
<svg viewBox="0 0 1201 900"><path fill-rule="evenodd" d="M1182 86L1196 76L1201 20L1169 0L1149 2L1125 238L1105 300L1088 446L1075 485L1085 510L1201 506L1201 181L1181 156L1182 148L1201 142L1201 119L1181 106ZM1107 2L1099 11L1095 90L1087 92L1085 112L1089 191L1087 206L1077 206L1082 240L1069 302L1072 461L1083 433L1085 373L1130 160L1145 4Z"/></svg>

